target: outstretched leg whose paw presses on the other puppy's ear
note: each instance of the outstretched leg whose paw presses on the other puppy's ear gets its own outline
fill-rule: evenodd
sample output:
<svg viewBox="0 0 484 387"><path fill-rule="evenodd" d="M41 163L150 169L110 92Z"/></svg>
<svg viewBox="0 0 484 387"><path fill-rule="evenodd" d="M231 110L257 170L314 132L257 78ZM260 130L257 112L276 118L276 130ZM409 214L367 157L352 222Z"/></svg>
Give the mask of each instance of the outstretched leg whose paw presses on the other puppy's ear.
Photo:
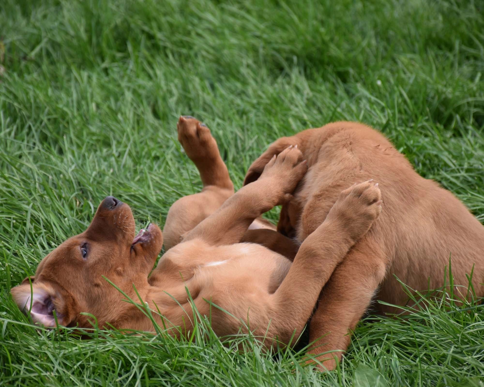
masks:
<svg viewBox="0 0 484 387"><path fill-rule="evenodd" d="M242 187L211 216L183 236L200 238L212 245L241 241L249 225L262 213L286 203L307 171L297 147L289 147L265 166L261 177Z"/></svg>

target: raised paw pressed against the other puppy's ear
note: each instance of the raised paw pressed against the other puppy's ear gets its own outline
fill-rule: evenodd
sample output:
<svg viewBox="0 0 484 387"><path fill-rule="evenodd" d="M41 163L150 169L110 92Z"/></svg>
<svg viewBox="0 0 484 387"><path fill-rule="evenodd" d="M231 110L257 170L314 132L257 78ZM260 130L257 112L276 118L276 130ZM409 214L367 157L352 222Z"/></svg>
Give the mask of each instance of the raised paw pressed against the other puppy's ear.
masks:
<svg viewBox="0 0 484 387"><path fill-rule="evenodd" d="M284 149L266 164L259 180L263 184L270 184L278 193L277 204L286 203L291 198L299 181L307 171L306 160L302 160L302 153L296 146Z"/></svg>

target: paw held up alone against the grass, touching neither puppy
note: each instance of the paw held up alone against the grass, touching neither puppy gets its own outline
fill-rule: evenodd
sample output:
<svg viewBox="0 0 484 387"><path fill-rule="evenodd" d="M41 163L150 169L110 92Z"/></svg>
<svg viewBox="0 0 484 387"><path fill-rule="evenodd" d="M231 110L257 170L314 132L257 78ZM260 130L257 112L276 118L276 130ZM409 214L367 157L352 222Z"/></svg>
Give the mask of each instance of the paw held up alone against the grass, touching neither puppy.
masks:
<svg viewBox="0 0 484 387"><path fill-rule="evenodd" d="M205 124L192 116L181 116L177 130L178 141L191 160L220 157L217 142Z"/></svg>

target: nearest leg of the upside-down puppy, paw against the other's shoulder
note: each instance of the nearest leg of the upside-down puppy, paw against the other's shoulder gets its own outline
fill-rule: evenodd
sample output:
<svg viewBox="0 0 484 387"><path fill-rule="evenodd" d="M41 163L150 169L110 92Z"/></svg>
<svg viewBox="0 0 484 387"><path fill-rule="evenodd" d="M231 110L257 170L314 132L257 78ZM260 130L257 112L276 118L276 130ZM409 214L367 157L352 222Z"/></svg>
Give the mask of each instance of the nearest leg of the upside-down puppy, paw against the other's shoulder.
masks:
<svg viewBox="0 0 484 387"><path fill-rule="evenodd" d="M277 335L282 342L288 342L293 334L294 337L299 336L313 312L321 289L330 279L335 268L340 264L340 267L345 265L351 247L366 234L378 218L382 208L380 198L378 184L371 181L348 188L340 194L324 222L302 242L287 276L271 296L273 310L270 332L272 335ZM352 265L354 266L354 262ZM358 276L354 271L350 273ZM345 280L346 282L340 282L339 285L352 288L352 278L345 277ZM353 293L348 292L348 296L354 296ZM340 300L341 296L333 291L331 299L323 298L318 311L325 311L331 301L333 308L328 313L329 317L336 322L341 321L340 325L346 328L351 323L347 323L345 318L348 316L342 315L338 310ZM347 301L346 298L344 300L348 302L348 306L351 304L350 300ZM356 300L360 301L361 298ZM355 303L351 305L354 307L351 316L357 315L359 319L359 310L364 306L355 305ZM312 328L313 322L311 322ZM314 337L311 329L310 334L313 334L311 337L318 338ZM335 335L335 340L336 348L331 347L331 349L338 349L342 338Z"/></svg>

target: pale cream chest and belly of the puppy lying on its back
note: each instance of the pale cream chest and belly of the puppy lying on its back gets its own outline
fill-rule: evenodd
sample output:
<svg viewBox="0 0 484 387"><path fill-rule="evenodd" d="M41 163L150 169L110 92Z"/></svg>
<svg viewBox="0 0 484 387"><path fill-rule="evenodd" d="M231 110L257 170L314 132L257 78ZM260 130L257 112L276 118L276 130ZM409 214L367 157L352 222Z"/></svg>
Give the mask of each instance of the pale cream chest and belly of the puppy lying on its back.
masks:
<svg viewBox="0 0 484 387"><path fill-rule="evenodd" d="M261 245L213 247L195 239L168 250L149 283L156 289L156 308L172 325L191 329L193 300L198 313L210 316L214 332L223 336L244 326L249 311L254 323L272 314L271 294L290 265L286 257Z"/></svg>

